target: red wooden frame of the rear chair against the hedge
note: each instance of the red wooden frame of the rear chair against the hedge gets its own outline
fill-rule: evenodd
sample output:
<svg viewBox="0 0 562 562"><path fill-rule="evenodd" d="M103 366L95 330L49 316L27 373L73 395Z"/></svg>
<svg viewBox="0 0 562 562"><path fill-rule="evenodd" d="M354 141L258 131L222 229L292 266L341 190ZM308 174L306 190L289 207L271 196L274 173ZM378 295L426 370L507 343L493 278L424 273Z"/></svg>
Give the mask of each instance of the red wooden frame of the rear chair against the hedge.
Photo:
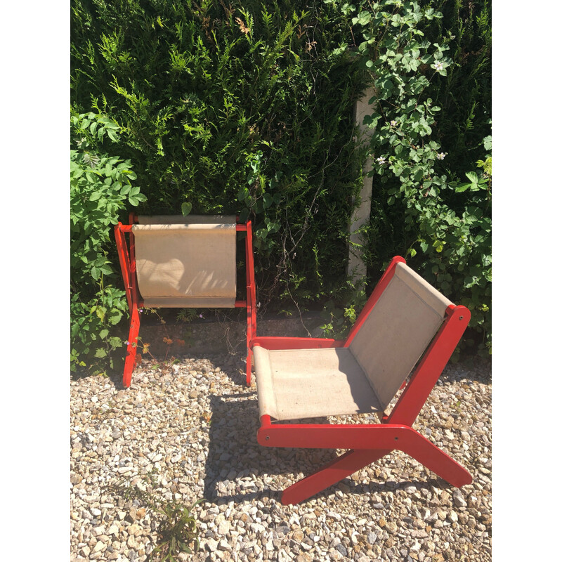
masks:
<svg viewBox="0 0 562 562"><path fill-rule="evenodd" d="M115 226L115 241L117 242L117 254L119 255L119 264L123 275L126 299L129 303L129 311L131 313L131 323L129 328L129 343L127 344L125 367L123 372L123 386L131 385L131 377L136 365L139 329L141 327L141 315L139 309L143 308L143 298L138 291L138 282L136 277L136 261L135 261L135 236L132 232L132 226L138 222L136 214L129 214L129 224L117 223ZM246 223L237 223L236 232L246 233L246 300L235 301L235 308L247 309L247 329L246 329L246 384L251 383L251 347L250 341L256 334L256 282L254 280L254 253L252 251L252 235L251 221ZM129 244L127 244L125 235L129 235Z"/></svg>

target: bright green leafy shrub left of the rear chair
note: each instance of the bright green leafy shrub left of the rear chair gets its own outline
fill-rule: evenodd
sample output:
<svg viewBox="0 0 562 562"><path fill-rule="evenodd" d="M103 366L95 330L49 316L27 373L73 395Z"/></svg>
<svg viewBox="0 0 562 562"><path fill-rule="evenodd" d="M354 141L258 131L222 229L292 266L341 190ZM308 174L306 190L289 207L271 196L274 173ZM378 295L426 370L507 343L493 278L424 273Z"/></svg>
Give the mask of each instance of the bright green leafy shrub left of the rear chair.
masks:
<svg viewBox="0 0 562 562"><path fill-rule="evenodd" d="M128 312L110 230L126 204L146 197L131 184L131 162L103 152L119 141L115 122L94 113L74 114L70 122L71 369L103 372L122 362L118 325Z"/></svg>

